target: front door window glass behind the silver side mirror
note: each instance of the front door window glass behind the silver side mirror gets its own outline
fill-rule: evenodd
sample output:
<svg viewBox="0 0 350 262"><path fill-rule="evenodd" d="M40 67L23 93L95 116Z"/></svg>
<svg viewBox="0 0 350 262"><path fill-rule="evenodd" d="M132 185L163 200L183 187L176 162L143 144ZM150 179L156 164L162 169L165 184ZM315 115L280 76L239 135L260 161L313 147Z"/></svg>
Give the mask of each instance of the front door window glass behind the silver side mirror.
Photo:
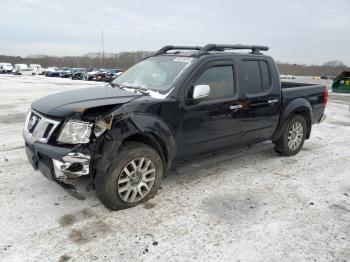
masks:
<svg viewBox="0 0 350 262"><path fill-rule="evenodd" d="M204 100L232 97L234 80L232 66L215 66L205 70L194 85L209 85L210 95Z"/></svg>

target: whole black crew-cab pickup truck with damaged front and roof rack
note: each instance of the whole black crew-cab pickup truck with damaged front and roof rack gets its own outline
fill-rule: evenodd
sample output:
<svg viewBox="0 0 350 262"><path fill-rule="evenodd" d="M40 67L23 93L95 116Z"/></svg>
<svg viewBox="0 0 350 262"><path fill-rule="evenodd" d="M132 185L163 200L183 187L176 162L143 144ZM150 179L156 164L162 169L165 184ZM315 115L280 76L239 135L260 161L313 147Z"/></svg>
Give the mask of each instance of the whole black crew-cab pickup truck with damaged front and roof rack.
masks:
<svg viewBox="0 0 350 262"><path fill-rule="evenodd" d="M281 84L267 50L165 46L107 86L37 100L24 127L28 159L62 185L85 177L118 210L152 198L163 174L194 155L270 140L293 156L323 119L328 92Z"/></svg>

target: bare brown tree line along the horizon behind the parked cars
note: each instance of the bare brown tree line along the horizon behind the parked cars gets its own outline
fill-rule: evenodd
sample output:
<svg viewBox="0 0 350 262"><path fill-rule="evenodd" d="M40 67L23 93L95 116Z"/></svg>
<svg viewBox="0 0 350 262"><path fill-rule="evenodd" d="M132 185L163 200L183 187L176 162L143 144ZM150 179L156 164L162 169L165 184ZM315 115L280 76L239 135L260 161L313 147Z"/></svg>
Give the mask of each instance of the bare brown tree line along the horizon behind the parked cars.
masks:
<svg viewBox="0 0 350 262"><path fill-rule="evenodd" d="M149 51L121 52L116 54L90 53L83 56L5 56L0 55L0 62L11 64L40 64L42 67L83 67L83 68L118 68L127 69L141 59L151 55ZM341 61L333 60L323 65L298 65L277 62L278 69L284 75L336 76L350 68Z"/></svg>

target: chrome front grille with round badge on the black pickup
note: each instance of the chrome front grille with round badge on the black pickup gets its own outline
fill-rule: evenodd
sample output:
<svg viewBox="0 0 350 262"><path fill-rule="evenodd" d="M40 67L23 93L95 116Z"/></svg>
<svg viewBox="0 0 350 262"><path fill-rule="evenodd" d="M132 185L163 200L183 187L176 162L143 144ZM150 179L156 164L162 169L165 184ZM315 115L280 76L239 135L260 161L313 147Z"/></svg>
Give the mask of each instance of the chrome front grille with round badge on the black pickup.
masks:
<svg viewBox="0 0 350 262"><path fill-rule="evenodd" d="M47 143L52 132L59 124L59 121L49 119L34 110L30 110L27 115L23 133L24 136L33 143Z"/></svg>

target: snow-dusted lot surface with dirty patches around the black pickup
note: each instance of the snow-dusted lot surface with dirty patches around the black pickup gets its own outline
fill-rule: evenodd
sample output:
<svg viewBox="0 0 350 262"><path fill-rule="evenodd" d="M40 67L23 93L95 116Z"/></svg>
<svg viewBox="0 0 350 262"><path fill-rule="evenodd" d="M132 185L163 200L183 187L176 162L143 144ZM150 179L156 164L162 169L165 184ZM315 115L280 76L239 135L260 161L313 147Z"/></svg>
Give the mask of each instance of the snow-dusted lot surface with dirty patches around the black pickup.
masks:
<svg viewBox="0 0 350 262"><path fill-rule="evenodd" d="M295 157L270 144L192 160L148 203L107 210L33 171L24 115L44 95L95 83L0 75L1 261L350 260L350 96Z"/></svg>

